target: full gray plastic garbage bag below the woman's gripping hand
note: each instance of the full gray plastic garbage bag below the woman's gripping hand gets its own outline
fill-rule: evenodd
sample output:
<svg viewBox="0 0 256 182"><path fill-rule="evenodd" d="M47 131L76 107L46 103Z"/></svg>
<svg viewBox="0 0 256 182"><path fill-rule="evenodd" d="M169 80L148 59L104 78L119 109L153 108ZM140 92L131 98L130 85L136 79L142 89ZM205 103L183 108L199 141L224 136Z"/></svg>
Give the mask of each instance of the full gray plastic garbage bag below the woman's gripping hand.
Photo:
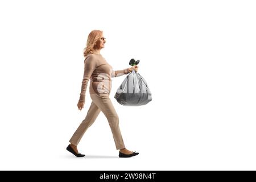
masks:
<svg viewBox="0 0 256 182"><path fill-rule="evenodd" d="M123 106L142 106L152 101L147 82L135 70L123 80L114 97Z"/></svg>

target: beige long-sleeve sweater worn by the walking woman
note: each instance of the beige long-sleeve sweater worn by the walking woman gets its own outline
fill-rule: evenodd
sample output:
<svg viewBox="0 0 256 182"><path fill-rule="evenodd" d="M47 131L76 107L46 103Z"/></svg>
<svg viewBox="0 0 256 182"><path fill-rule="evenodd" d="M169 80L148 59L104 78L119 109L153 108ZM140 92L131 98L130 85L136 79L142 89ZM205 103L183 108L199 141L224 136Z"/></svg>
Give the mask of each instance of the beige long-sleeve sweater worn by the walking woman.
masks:
<svg viewBox="0 0 256 182"><path fill-rule="evenodd" d="M85 101L85 92L90 80L90 94L110 94L112 77L118 77L129 73L129 68L113 71L112 66L102 55L89 54L84 60L84 77L82 79L80 101Z"/></svg>

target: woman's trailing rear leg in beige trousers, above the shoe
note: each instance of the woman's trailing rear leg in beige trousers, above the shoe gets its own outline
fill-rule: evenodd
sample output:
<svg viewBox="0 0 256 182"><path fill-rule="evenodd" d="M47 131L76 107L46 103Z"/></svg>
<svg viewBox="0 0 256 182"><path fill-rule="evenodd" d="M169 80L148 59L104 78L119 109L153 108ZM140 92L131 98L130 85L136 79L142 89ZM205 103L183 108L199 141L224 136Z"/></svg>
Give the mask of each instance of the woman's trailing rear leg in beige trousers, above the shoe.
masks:
<svg viewBox="0 0 256 182"><path fill-rule="evenodd" d="M98 108L98 106L94 104L94 102L92 102L85 119L81 122L80 126L77 128L77 130L69 140L69 142L73 144L73 146L77 146L79 144L85 131L94 123L94 121L98 117L98 114L100 114L100 111L100 108Z"/></svg>

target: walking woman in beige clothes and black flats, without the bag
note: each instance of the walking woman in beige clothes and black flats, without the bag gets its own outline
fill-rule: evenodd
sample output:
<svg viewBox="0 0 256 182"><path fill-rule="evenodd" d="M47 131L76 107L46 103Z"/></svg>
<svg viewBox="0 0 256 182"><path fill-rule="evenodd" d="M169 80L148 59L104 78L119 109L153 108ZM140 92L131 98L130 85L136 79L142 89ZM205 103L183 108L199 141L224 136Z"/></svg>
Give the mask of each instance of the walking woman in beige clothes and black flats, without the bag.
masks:
<svg viewBox="0 0 256 182"><path fill-rule="evenodd" d="M126 75L133 71L133 69L138 71L138 67L133 66L119 71L112 71L112 66L106 62L100 53L101 49L104 48L105 43L106 39L104 38L103 32L100 30L93 30L88 35L86 47L84 49L84 77L82 79L80 99L77 107L79 110L84 108L85 92L89 79L89 93L90 98L92 98L92 104L90 105L85 119L81 122L80 126L69 140L70 144L68 145L67 150L77 157L85 156L84 154L79 153L77 144L79 144L82 135L84 135L85 131L93 124L98 117L98 114L100 114L100 111L102 111L108 119L115 146L117 150L119 150L119 157L129 158L138 155L139 153L129 151L125 148L119 129L118 115L110 101L109 94L112 84L111 77Z"/></svg>

